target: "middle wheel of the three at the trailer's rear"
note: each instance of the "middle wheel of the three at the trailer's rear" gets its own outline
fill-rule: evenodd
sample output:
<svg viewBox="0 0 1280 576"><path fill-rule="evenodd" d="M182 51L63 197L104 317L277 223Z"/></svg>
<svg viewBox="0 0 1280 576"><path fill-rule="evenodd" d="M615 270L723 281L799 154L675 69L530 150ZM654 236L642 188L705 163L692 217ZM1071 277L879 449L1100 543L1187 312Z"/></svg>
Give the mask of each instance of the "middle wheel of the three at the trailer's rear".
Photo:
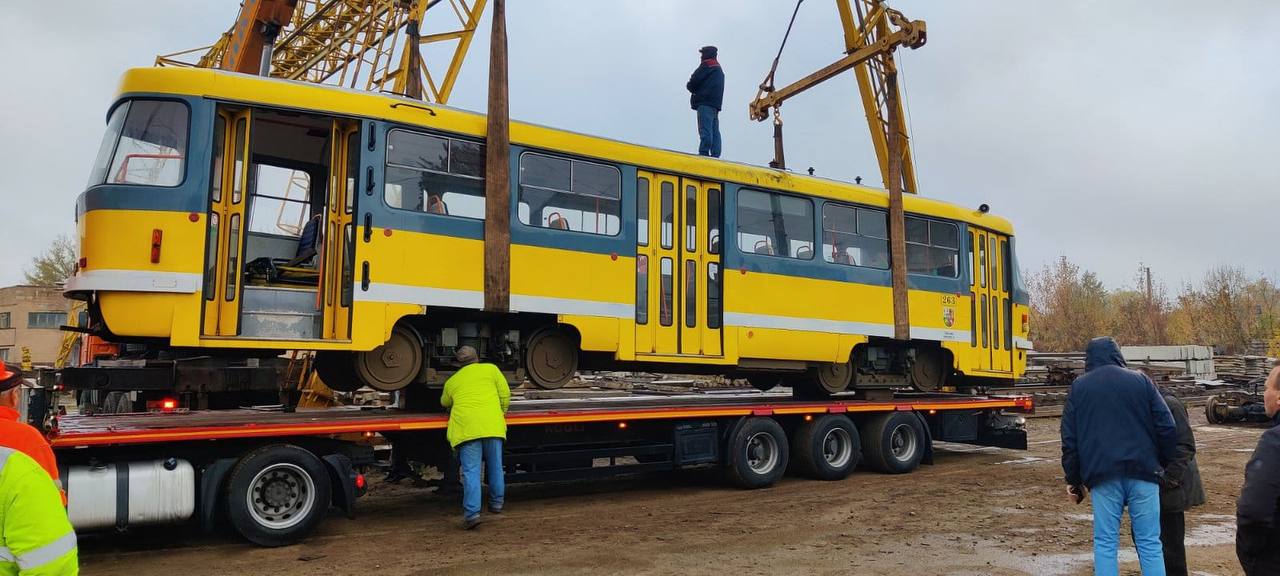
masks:
<svg viewBox="0 0 1280 576"><path fill-rule="evenodd" d="M842 480L858 466L863 447L847 416L823 415L804 422L791 438L796 471L817 480Z"/></svg>

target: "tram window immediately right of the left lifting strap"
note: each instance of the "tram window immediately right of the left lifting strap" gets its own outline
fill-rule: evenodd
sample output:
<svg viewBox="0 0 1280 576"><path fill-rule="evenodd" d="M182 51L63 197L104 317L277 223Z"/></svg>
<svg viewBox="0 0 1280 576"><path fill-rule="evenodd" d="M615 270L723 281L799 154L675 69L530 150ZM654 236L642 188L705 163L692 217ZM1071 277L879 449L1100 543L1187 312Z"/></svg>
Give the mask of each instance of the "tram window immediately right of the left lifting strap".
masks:
<svg viewBox="0 0 1280 576"><path fill-rule="evenodd" d="M535 228L617 236L622 173L604 164L524 154L516 216Z"/></svg>

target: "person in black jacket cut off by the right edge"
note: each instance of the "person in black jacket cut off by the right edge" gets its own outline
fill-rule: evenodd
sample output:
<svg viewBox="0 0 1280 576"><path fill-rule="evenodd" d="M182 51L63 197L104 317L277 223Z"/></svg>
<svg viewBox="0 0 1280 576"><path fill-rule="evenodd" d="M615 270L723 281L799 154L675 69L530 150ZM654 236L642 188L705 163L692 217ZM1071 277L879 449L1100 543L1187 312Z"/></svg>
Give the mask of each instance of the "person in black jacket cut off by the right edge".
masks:
<svg viewBox="0 0 1280 576"><path fill-rule="evenodd" d="M1280 366L1271 370L1262 399L1274 419L1280 412ZM1235 503L1235 556L1249 576L1280 573L1280 426L1262 433L1244 467Z"/></svg>

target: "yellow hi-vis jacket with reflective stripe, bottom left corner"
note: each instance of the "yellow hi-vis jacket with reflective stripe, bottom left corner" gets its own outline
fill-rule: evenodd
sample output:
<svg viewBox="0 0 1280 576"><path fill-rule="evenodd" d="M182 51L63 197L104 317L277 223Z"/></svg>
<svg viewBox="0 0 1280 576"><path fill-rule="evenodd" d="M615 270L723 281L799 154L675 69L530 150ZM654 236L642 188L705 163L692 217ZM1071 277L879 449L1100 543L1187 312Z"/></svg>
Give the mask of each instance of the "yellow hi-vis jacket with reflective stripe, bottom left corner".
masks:
<svg viewBox="0 0 1280 576"><path fill-rule="evenodd" d="M0 575L79 573L63 498L29 456L0 448Z"/></svg>

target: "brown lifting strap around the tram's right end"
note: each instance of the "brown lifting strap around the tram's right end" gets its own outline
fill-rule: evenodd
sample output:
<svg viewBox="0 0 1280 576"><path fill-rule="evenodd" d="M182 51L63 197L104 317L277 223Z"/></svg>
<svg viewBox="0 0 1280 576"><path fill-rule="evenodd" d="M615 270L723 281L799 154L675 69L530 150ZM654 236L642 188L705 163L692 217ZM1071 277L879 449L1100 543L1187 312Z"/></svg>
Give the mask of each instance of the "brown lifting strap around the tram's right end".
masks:
<svg viewBox="0 0 1280 576"><path fill-rule="evenodd" d="M888 250L893 279L893 338L911 338L906 305L906 219L902 210L902 127L897 113L897 70L886 70L888 101Z"/></svg>

